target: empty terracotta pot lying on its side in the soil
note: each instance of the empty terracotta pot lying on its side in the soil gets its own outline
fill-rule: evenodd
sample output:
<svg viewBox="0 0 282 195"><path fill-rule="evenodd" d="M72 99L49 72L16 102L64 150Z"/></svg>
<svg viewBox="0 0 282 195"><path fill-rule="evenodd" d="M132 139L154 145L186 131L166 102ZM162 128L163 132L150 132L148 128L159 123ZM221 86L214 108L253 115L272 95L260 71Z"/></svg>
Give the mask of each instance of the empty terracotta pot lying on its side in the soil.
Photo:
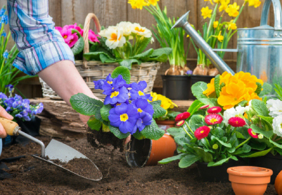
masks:
<svg viewBox="0 0 282 195"><path fill-rule="evenodd" d="M158 164L162 159L173 157L176 143L171 135L163 135L158 140L136 139L126 144L126 162L130 167L144 167Z"/></svg>

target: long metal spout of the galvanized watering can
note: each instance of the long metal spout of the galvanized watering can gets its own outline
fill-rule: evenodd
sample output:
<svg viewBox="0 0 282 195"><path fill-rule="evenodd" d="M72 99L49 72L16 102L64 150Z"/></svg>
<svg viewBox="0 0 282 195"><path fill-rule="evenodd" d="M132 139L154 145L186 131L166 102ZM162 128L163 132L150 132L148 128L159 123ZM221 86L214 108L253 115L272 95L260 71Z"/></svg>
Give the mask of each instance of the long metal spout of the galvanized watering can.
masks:
<svg viewBox="0 0 282 195"><path fill-rule="evenodd" d="M172 28L183 28L186 33L188 33L189 36L193 39L194 43L196 43L196 46L205 53L206 57L208 57L209 60L211 60L211 63L218 69L219 73L228 72L234 75L233 70L219 57L216 53L213 52L213 49L211 46L206 43L205 40L198 34L198 32L188 23L188 11L186 14L181 16L178 21L174 24ZM171 28L171 29L172 29Z"/></svg>

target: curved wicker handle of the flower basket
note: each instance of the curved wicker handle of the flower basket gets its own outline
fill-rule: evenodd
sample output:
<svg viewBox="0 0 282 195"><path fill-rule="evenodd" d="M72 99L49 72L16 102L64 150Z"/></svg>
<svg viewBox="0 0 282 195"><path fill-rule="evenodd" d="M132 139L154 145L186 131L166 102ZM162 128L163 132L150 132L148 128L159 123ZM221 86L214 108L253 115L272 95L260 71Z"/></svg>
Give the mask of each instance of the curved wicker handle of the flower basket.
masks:
<svg viewBox="0 0 282 195"><path fill-rule="evenodd" d="M97 16L93 13L89 13L86 16L85 22L84 22L84 53L89 53L89 26L90 26L90 22L91 19L93 19L96 29L97 29L97 33L100 33L101 31L101 25L99 22L99 19L97 18ZM84 59L84 68L87 68L87 61Z"/></svg>

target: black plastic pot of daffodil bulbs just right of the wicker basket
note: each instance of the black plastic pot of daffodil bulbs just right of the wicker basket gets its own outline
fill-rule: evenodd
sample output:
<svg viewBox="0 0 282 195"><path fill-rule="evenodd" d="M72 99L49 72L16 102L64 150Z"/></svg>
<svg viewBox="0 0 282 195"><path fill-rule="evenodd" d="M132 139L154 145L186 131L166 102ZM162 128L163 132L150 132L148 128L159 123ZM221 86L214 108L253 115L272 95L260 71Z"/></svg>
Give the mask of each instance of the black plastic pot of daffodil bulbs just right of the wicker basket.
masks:
<svg viewBox="0 0 282 195"><path fill-rule="evenodd" d="M188 100L191 93L190 76L161 75L163 79L163 95L171 100Z"/></svg>

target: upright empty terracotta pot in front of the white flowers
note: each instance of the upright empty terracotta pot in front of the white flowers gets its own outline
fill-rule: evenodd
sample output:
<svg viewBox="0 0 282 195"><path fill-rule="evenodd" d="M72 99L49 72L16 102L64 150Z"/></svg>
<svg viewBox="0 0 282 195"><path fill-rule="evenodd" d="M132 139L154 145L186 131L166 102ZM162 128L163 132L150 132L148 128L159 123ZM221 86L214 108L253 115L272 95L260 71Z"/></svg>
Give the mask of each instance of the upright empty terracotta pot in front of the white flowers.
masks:
<svg viewBox="0 0 282 195"><path fill-rule="evenodd" d="M273 174L271 169L261 167L230 167L229 181L236 195L263 195Z"/></svg>

